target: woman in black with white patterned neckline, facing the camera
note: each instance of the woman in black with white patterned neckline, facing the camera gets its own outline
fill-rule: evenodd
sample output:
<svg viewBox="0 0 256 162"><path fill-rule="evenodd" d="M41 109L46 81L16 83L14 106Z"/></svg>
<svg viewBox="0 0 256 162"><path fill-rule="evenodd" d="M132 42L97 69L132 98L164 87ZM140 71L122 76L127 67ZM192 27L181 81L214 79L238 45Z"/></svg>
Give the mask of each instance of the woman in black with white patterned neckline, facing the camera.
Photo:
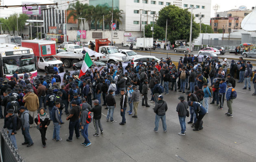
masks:
<svg viewBox="0 0 256 162"><path fill-rule="evenodd" d="M41 124L41 126L42 126L42 128L39 129L39 131L41 133L43 148L45 148L46 147L46 130L47 130L49 124L50 124L50 117L45 112L43 107L41 107L39 109L39 113L37 114L37 117L35 118L35 123L37 125Z"/></svg>

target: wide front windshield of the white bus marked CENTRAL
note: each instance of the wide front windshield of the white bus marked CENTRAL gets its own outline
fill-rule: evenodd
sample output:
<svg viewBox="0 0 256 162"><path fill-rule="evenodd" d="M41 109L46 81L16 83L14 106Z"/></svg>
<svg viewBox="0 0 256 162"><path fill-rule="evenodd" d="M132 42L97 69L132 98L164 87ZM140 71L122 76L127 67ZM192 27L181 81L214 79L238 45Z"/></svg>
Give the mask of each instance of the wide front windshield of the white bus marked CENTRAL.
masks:
<svg viewBox="0 0 256 162"><path fill-rule="evenodd" d="M19 74L32 72L36 70L34 55L15 55L11 57L3 57L4 74L14 74L16 70Z"/></svg>

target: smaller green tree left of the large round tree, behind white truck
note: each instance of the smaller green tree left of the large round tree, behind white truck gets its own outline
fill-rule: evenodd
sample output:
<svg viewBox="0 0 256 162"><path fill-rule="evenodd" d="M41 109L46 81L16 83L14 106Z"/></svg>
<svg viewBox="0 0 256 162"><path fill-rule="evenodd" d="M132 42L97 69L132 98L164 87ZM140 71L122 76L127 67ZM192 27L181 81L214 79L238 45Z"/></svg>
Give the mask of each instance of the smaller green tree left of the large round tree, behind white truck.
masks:
<svg viewBox="0 0 256 162"><path fill-rule="evenodd" d="M153 25L152 24L148 24L147 26L145 26L145 37L152 37L152 31L151 31L151 27ZM163 38L165 38L165 30L164 28L162 28L161 26L158 26L157 24L154 24L154 39L160 39L162 40Z"/></svg>

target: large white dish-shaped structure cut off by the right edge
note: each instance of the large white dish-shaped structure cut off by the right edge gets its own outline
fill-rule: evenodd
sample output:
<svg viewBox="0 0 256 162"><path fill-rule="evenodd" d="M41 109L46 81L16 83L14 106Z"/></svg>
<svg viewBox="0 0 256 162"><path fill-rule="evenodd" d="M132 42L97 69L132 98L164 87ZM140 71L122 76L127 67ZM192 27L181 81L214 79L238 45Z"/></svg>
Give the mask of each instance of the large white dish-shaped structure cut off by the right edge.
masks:
<svg viewBox="0 0 256 162"><path fill-rule="evenodd" d="M242 21L241 28L246 31L256 31L256 9L249 13Z"/></svg>

